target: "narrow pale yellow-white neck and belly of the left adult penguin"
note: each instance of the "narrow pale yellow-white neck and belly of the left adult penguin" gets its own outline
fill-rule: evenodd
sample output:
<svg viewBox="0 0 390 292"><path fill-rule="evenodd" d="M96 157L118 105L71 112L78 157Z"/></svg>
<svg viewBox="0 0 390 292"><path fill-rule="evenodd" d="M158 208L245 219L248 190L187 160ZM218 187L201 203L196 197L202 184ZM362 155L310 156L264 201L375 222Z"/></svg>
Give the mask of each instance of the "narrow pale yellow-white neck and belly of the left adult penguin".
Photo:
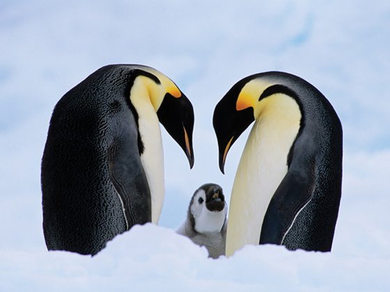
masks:
<svg viewBox="0 0 390 292"><path fill-rule="evenodd" d="M130 101L138 114L139 135L143 143L141 163L150 189L152 222L157 224L164 202L164 156L159 120L142 79L134 80Z"/></svg>

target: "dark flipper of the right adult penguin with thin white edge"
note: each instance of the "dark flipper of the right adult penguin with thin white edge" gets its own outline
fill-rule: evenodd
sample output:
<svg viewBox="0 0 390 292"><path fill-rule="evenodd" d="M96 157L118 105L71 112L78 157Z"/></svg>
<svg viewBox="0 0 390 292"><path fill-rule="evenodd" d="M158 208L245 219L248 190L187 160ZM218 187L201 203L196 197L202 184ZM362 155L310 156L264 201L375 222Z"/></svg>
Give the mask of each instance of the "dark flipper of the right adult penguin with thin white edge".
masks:
<svg viewBox="0 0 390 292"><path fill-rule="evenodd" d="M313 168L288 171L276 189L264 216L260 244L283 244L295 218L311 200Z"/></svg>

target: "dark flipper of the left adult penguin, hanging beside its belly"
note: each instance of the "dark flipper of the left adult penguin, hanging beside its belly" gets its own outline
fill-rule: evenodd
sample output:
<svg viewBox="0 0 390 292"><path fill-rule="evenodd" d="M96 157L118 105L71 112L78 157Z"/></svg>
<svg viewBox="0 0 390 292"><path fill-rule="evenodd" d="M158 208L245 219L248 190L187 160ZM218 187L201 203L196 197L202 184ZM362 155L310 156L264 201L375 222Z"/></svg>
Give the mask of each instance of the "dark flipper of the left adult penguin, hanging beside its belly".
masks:
<svg viewBox="0 0 390 292"><path fill-rule="evenodd" d="M114 138L107 152L110 179L123 204L127 230L150 222L150 188L137 143L131 135L120 135Z"/></svg>

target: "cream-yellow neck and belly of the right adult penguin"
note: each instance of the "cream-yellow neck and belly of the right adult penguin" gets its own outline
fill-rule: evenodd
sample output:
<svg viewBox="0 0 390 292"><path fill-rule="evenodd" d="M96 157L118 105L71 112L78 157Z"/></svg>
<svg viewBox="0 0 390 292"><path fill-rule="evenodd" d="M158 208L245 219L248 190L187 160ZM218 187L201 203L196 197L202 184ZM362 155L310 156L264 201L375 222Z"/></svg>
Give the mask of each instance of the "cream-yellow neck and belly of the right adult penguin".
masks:
<svg viewBox="0 0 390 292"><path fill-rule="evenodd" d="M302 115L295 99L275 94L258 107L233 184L226 255L258 245L265 212L288 171L288 153L299 131Z"/></svg>

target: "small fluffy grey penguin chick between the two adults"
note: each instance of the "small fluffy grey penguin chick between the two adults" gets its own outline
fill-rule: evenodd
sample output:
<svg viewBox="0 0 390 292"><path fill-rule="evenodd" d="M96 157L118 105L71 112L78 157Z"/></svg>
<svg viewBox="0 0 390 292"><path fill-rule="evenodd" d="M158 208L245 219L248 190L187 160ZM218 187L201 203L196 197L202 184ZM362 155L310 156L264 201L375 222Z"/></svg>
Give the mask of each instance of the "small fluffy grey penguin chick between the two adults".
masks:
<svg viewBox="0 0 390 292"><path fill-rule="evenodd" d="M227 211L221 186L203 184L192 195L187 219L177 233L187 236L196 245L205 246L209 257L217 259L225 254Z"/></svg>

